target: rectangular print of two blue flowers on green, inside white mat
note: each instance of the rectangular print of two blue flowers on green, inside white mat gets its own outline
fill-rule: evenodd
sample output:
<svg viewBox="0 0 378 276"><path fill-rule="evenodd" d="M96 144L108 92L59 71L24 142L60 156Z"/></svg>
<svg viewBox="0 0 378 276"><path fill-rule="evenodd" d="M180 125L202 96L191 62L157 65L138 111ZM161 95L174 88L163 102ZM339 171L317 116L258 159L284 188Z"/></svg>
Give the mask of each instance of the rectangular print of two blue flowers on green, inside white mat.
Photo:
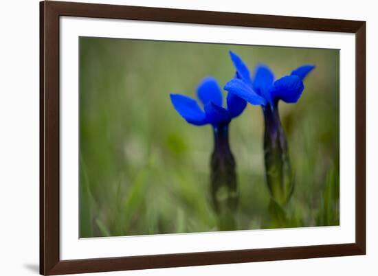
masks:
<svg viewBox="0 0 378 276"><path fill-rule="evenodd" d="M340 225L339 49L79 43L80 238Z"/></svg>

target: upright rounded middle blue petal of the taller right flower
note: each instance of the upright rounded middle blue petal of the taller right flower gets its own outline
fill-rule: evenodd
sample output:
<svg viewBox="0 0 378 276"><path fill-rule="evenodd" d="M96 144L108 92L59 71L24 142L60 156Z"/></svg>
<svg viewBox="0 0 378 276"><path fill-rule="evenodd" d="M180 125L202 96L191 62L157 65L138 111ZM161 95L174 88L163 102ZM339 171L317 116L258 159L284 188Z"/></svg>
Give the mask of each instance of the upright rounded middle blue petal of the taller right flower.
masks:
<svg viewBox="0 0 378 276"><path fill-rule="evenodd" d="M258 65L255 69L252 87L258 95L265 97L265 100L271 100L271 87L274 82L274 73L266 65Z"/></svg>

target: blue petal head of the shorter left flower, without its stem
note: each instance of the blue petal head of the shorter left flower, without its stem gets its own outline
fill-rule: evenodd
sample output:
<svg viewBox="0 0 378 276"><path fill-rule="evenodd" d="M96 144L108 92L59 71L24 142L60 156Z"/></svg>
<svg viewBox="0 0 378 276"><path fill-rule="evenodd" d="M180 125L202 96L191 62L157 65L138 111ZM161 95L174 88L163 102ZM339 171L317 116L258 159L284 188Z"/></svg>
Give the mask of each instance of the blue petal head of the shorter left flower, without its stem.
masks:
<svg viewBox="0 0 378 276"><path fill-rule="evenodd" d="M247 102L234 93L227 95L227 108L223 108L223 95L221 88L214 78L208 77L202 80L197 87L197 96L203 104L201 108L198 102L191 97L180 94L170 94L175 110L186 119L186 122L196 126L212 124L217 127L227 125L231 119L243 113Z"/></svg>

